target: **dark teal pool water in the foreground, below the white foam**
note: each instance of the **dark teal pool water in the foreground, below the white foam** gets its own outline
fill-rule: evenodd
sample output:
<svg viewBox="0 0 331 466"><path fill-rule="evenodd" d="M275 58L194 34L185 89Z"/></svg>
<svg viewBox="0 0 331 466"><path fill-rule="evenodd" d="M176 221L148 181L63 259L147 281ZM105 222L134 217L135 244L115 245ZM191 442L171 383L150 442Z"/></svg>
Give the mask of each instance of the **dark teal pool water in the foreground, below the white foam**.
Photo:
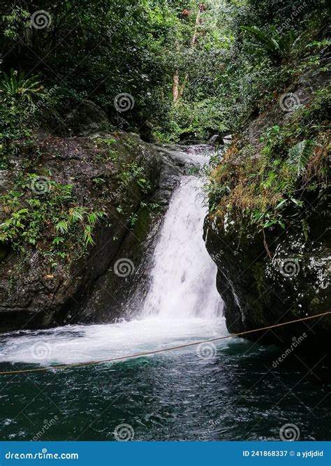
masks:
<svg viewBox="0 0 331 466"><path fill-rule="evenodd" d="M1 346L0 346L1 348ZM330 440L330 372L243 340L116 364L0 376L1 439L277 440L287 423L301 440ZM1 363L0 370L36 367ZM48 427L47 427L48 426ZM38 435L38 432L42 432Z"/></svg>

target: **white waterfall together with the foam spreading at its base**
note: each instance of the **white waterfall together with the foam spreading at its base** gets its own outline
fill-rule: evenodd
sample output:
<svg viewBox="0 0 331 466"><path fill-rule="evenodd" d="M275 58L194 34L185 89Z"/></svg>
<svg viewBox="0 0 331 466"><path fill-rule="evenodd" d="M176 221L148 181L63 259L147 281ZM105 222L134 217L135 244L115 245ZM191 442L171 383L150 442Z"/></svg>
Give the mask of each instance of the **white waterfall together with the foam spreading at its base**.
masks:
<svg viewBox="0 0 331 466"><path fill-rule="evenodd" d="M196 161L205 158L196 156ZM196 177L183 177L172 195L154 251L149 293L135 320L16 332L0 342L0 361L77 363L224 335L216 265L203 241L207 209L202 184Z"/></svg>

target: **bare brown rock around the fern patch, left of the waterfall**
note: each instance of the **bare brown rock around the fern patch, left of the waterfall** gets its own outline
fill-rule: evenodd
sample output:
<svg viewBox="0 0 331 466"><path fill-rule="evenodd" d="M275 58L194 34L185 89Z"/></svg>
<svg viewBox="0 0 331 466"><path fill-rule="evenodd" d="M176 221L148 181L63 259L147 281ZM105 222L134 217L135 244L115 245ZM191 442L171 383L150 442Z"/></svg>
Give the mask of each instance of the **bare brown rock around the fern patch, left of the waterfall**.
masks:
<svg viewBox="0 0 331 466"><path fill-rule="evenodd" d="M25 248L24 253L13 250L10 244L2 247L2 331L45 328L75 320L71 312L73 303L78 303L80 296L88 294L96 279L112 265L124 238L131 232L130 219L139 212L140 199L152 196L162 168L156 151L134 134L111 136L99 133L91 137L73 138L44 134L39 137L41 156L32 162L32 166L28 166L29 172L51 173L50 181L73 187L74 205L89 205L93 210L100 210L102 206L107 217L96 226L95 244L80 254L81 245L77 238L76 244L71 242L68 246L64 260L47 254L51 250L52 240L48 238L47 229L42 232L36 247ZM117 161L109 158L107 147L96 144L97 139L110 138L116 141L114 149L118 154ZM135 180L130 182L127 189L118 183L119 173L133 161L151 180L145 195ZM24 156L10 161L10 178L3 189L13 189L17 173L20 173L24 163L27 164ZM43 197L40 199L44 201ZM26 200L22 207L25 205ZM1 218L6 219L6 214L1 214ZM52 268L52 261L56 261L55 268Z"/></svg>

